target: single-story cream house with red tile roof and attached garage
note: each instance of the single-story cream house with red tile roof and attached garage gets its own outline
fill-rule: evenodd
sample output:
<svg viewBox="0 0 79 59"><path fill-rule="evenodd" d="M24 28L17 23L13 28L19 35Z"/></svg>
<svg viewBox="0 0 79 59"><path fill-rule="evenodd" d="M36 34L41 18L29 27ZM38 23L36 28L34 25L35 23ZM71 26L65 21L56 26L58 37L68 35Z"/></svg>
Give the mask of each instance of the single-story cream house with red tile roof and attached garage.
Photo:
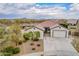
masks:
<svg viewBox="0 0 79 59"><path fill-rule="evenodd" d="M60 26L55 21L44 21L36 26L33 26L28 29L24 29L23 32L30 32L30 31L39 31L40 38L43 39L44 37L61 37L61 38L68 38L69 30Z"/></svg>

